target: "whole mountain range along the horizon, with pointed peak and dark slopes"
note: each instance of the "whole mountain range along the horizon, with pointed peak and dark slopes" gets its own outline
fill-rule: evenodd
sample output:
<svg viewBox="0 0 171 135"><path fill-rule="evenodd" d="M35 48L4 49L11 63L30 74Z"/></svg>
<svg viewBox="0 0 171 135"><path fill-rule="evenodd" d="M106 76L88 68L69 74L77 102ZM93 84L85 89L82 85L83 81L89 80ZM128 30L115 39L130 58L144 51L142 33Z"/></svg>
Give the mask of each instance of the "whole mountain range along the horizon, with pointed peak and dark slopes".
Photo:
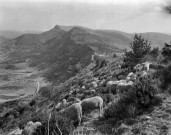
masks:
<svg viewBox="0 0 171 135"><path fill-rule="evenodd" d="M162 48L165 42L171 41L169 34L138 34L151 41L152 47ZM49 81L65 81L74 76L77 73L76 65L85 67L95 53L111 54L129 50L134 37L134 33L60 25L40 34L22 34L13 39L1 35L9 38L0 44L6 62L27 61L30 66L43 70Z"/></svg>

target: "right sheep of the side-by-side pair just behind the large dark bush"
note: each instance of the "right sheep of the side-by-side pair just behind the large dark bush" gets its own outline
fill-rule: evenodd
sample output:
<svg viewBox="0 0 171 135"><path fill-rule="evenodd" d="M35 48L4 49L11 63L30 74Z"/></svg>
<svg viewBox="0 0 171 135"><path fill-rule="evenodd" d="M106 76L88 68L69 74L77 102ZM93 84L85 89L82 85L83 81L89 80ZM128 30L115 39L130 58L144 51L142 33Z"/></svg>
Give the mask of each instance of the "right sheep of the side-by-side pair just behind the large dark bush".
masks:
<svg viewBox="0 0 171 135"><path fill-rule="evenodd" d="M121 93L128 91L132 87L132 85L133 85L132 81L118 84L116 86L117 94L120 95Z"/></svg>

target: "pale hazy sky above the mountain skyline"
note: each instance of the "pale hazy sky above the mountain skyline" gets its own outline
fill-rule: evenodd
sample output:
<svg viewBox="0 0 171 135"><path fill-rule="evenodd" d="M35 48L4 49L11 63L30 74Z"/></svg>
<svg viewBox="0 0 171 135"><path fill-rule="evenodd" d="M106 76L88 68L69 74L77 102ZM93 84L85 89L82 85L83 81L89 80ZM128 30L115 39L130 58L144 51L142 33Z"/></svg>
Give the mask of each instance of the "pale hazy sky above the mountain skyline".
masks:
<svg viewBox="0 0 171 135"><path fill-rule="evenodd" d="M170 0L171 1L171 0ZM55 25L171 33L169 0L0 0L0 30L46 31Z"/></svg>

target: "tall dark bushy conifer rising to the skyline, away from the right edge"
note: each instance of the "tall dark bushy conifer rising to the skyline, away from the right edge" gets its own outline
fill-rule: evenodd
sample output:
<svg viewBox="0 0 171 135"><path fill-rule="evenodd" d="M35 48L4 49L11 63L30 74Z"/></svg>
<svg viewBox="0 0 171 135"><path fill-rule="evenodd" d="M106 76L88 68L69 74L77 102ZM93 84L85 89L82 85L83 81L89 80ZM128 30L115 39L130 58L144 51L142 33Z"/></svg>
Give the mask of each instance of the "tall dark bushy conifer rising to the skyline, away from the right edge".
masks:
<svg viewBox="0 0 171 135"><path fill-rule="evenodd" d="M125 51L124 63L129 67L134 67L136 64L144 62L145 56L150 53L150 45L151 42L144 39L141 35L135 34L131 43L131 51Z"/></svg>

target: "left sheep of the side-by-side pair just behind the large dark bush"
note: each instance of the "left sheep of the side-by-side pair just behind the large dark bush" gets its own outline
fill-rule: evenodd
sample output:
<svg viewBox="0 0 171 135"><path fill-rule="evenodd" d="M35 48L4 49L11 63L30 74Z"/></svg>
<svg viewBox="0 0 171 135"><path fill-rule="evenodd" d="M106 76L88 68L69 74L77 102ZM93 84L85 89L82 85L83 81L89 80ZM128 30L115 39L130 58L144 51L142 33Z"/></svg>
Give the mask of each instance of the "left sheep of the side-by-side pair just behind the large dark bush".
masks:
<svg viewBox="0 0 171 135"><path fill-rule="evenodd" d="M119 83L126 82L126 80L119 80L119 81L109 81L107 83L107 89L109 90L109 93L116 93L116 86Z"/></svg>

